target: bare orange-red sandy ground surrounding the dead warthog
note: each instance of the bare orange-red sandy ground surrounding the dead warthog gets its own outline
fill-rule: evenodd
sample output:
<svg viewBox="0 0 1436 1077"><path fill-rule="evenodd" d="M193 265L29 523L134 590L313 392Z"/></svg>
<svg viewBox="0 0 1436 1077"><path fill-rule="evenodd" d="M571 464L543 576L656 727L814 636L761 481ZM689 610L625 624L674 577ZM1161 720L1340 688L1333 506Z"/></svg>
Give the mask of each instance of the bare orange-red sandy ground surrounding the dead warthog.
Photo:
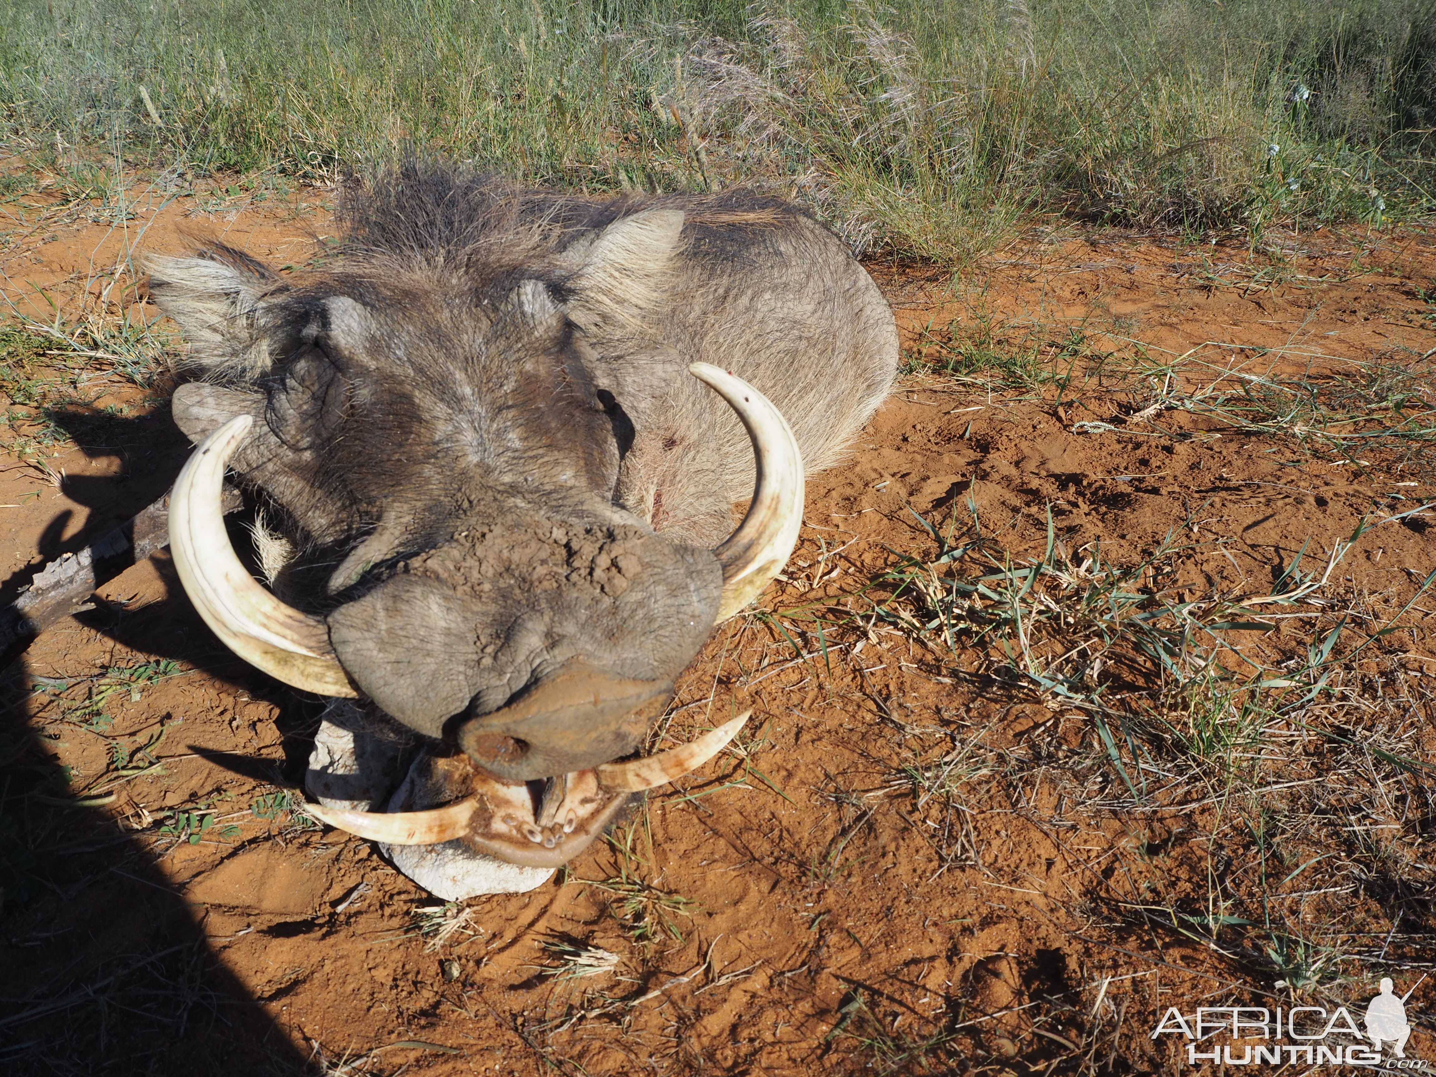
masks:
<svg viewBox="0 0 1436 1077"><path fill-rule="evenodd" d="M217 233L276 264L300 261L327 221L323 192L302 201L152 194L116 224L34 195L29 217L10 205L39 223L16 227L0 271L7 296L46 317L40 289L72 306L86 286L101 296L98 270L136 240L178 250L182 230ZM972 340L988 326L998 350L1071 326L1088 348L1142 340L1156 359L1292 376L1343 360L1410 366L1436 346L1420 293L1436 279L1432 236L1282 241L1279 271L1245 250L1064 230L1030 233L955 286L922 267L872 270L910 353L933 362L954 333ZM108 299L119 310L135 293ZM162 402L106 375L103 359L90 376L78 444L47 449L43 467L0 461L6 602L45 561L159 495L184 460ZM1193 550L1163 587L1261 596L1302 543L1321 561L1363 517L1436 500L1436 470L1409 454L1313 455L1199 409L1130 421L1159 389L908 375L847 464L810 478L808 526L764 602L780 616L715 633L679 685L665 744L729 708L752 707L757 728L551 883L464 909L445 912L368 843L276 807L320 704L225 652L165 554L136 564L6 673L0 836L22 852L6 864L0 920L0 1066L1180 1073L1192 1068L1186 1041L1150 1035L1167 1007L1313 1004L1274 984L1259 948L1234 959L1190 923L1142 913L1252 920L1254 890L1222 879L1246 870L1261 841L1229 826L1241 813L1215 774L1155 761L1157 791L1136 803L1104 765L1088 712L992 675L994 639L948 648L875 612L915 609L883 574L938 557L929 527L969 534L969 501L1015 557L1043 553L1048 518L1066 550L1100 541L1113 563L1140 563L1178 534ZM1433 567L1414 516L1364 536L1323 595L1394 613ZM1412 684L1436 669L1432 615L1417 607L1371 652L1373 669ZM844 623L819 633L814 613ZM1304 646L1310 622L1274 623L1236 638L1264 655ZM1133 659L1124 676L1149 673ZM1412 721L1436 761L1430 714ZM1246 790L1279 811L1292 790L1328 785L1331 826L1353 826L1344 771L1325 752L1278 752ZM1393 853L1396 890L1430 879L1429 817L1413 826ZM1393 919L1400 900L1377 883L1347 886L1340 856L1271 890L1285 922L1340 923L1348 949L1374 954L1386 938L1397 994L1436 956L1429 902L1417 895ZM566 966L576 954L590 966ZM1343 968L1315 1004L1338 998L1360 1021L1374 981L1357 959ZM1436 982L1407 1010L1436 1014ZM1414 1024L1407 1054L1436 1060L1430 1020Z"/></svg>

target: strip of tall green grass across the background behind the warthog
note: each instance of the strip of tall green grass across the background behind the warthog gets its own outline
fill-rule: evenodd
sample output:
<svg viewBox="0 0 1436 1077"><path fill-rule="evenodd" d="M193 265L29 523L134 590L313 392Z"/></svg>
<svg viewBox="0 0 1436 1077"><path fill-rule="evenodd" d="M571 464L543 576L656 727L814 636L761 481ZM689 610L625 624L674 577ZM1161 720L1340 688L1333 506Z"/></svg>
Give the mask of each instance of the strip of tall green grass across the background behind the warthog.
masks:
<svg viewBox="0 0 1436 1077"><path fill-rule="evenodd" d="M1436 0L9 0L42 164L332 174L418 145L583 190L754 184L961 258L1024 214L1423 214Z"/></svg>

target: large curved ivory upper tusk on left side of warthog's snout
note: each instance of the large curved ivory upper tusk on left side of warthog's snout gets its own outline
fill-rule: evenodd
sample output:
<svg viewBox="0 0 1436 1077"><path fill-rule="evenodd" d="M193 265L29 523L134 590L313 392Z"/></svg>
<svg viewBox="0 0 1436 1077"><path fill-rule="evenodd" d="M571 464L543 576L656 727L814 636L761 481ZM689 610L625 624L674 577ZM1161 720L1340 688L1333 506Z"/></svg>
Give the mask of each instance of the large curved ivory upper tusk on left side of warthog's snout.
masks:
<svg viewBox="0 0 1436 1077"><path fill-rule="evenodd" d="M224 465L254 419L240 415L190 454L169 495L169 551L190 602L236 655L319 695L358 696L329 645L325 622L286 606L250 576L220 510Z"/></svg>

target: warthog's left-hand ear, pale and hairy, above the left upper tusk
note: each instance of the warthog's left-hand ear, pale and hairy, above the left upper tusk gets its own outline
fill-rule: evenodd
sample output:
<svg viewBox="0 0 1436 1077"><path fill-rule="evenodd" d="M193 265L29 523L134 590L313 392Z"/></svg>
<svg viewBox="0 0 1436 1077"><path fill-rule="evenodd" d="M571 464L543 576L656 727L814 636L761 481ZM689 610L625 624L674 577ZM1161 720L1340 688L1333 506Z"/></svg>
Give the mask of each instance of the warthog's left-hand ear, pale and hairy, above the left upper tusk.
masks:
<svg viewBox="0 0 1436 1077"><path fill-rule="evenodd" d="M192 345L195 366L238 376L269 369L264 300L283 289L279 274L224 244L192 257L145 254L141 264L149 273L149 294Z"/></svg>

